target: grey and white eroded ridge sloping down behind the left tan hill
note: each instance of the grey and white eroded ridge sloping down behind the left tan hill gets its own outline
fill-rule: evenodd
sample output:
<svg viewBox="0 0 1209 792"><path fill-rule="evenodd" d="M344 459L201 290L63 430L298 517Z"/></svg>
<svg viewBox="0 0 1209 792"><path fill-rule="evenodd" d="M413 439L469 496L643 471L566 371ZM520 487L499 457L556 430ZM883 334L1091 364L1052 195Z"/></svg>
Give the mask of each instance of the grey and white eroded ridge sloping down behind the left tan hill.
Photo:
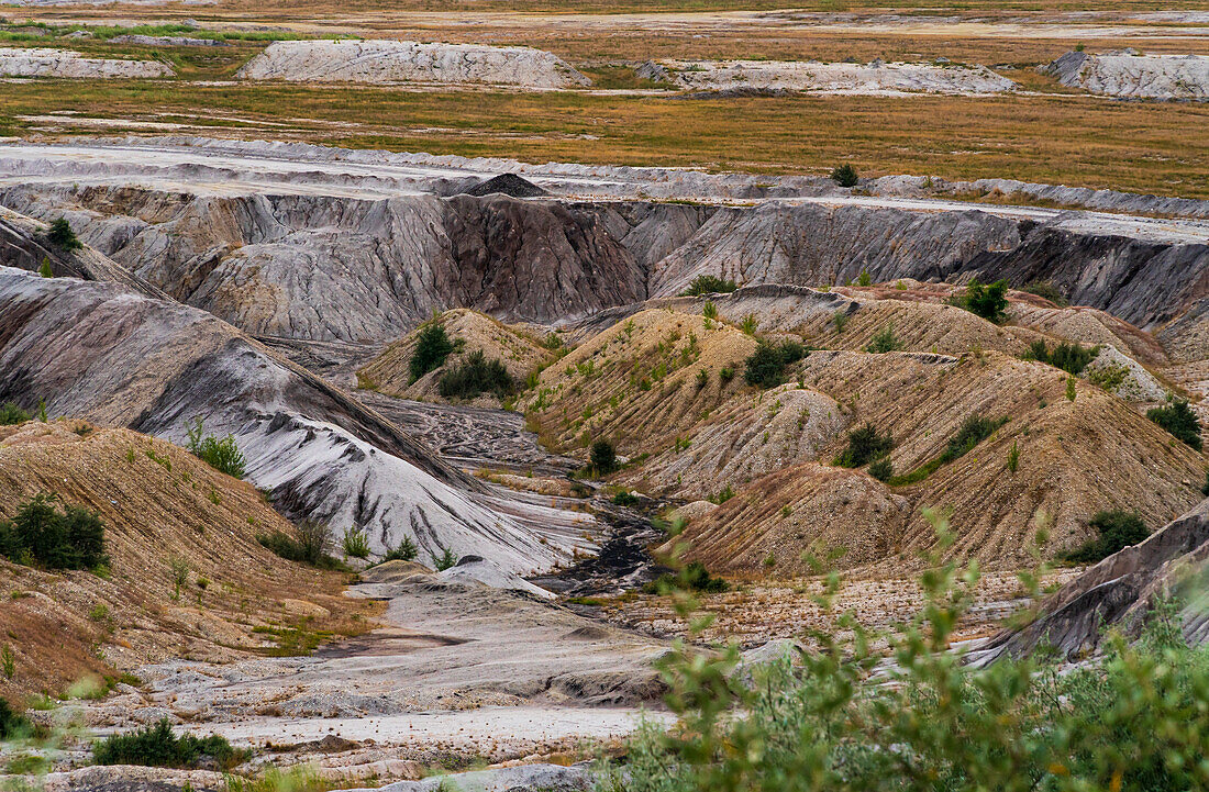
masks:
<svg viewBox="0 0 1209 792"><path fill-rule="evenodd" d="M584 547L556 509L514 504L376 412L213 316L115 284L0 268L0 400L183 441L232 434L248 479L291 518L361 526L376 553L475 554L549 568Z"/></svg>

